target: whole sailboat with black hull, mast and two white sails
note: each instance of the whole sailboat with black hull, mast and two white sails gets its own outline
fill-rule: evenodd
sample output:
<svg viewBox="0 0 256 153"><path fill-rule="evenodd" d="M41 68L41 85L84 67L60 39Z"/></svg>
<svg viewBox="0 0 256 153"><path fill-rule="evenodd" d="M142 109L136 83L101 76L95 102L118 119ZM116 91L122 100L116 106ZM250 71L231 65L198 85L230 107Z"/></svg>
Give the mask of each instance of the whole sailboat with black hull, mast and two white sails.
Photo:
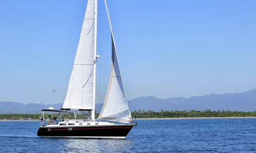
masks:
<svg viewBox="0 0 256 153"><path fill-rule="evenodd" d="M88 0L82 24L73 70L67 93L61 110L48 108L41 111L42 124L37 131L40 137L62 138L126 138L133 123L119 69L119 61L113 37L110 14L105 1L110 23L112 56L110 78L103 108L95 119L96 95L96 54L97 44L97 0ZM47 119L48 111L58 113L59 117ZM74 111L74 112L72 112ZM76 111L90 112L87 119L76 119ZM47 115L45 113L48 113ZM64 113L71 113L74 119L63 118ZM86 115L86 113L84 113Z"/></svg>

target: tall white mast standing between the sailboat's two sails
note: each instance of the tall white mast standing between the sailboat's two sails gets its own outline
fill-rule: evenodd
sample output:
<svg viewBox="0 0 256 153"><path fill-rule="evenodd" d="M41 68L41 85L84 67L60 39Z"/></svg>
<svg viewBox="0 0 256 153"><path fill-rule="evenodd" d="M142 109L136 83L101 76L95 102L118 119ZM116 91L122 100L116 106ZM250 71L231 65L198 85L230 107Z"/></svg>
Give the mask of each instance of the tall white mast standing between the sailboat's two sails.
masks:
<svg viewBox="0 0 256 153"><path fill-rule="evenodd" d="M95 17L94 17L94 64L93 64L93 94L92 94L92 109L91 120L95 120L95 100L96 100L96 47L97 47L97 22L98 22L98 0L95 0Z"/></svg>

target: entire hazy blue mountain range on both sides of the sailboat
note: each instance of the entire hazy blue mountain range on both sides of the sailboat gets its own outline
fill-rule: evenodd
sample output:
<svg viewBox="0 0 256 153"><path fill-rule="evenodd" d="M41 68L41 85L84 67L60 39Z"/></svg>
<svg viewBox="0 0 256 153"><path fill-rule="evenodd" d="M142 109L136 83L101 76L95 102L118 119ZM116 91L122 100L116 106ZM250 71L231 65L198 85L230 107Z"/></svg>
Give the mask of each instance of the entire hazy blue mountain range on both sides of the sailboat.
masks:
<svg viewBox="0 0 256 153"><path fill-rule="evenodd" d="M138 97L128 102L131 111L134 110L256 110L256 89L245 93L209 94L191 98L158 99L153 96ZM40 110L53 107L58 110L62 103L42 104L19 102L0 102L0 114L36 114ZM96 104L96 112L100 113L101 104Z"/></svg>

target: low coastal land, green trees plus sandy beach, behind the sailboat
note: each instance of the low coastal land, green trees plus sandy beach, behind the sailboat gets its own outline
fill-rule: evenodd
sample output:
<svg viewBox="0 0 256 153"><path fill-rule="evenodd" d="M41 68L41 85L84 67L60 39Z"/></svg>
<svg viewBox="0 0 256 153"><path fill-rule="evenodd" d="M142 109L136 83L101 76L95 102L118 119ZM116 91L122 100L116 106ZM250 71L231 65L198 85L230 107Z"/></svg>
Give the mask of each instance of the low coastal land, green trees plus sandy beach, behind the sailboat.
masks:
<svg viewBox="0 0 256 153"><path fill-rule="evenodd" d="M57 113L50 113L52 117L58 118ZM87 116L91 116L87 112ZM95 114L98 118L99 114ZM230 110L135 110L131 112L133 119L242 119L256 118L256 111L230 111ZM74 119L72 113L64 113L62 117L65 119ZM85 119L83 114L77 114L76 119ZM39 120L41 114L0 114L0 120Z"/></svg>

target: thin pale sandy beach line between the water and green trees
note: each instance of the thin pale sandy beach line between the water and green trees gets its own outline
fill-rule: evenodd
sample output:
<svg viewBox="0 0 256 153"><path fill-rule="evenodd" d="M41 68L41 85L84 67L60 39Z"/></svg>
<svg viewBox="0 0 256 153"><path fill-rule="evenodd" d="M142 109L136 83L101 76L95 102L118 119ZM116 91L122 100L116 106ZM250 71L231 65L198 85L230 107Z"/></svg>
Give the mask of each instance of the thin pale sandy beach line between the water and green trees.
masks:
<svg viewBox="0 0 256 153"><path fill-rule="evenodd" d="M165 120L165 119L255 119L256 116L252 117L195 117L195 118L137 118L133 120ZM39 119L27 119L27 120L4 120L0 121L41 121Z"/></svg>

